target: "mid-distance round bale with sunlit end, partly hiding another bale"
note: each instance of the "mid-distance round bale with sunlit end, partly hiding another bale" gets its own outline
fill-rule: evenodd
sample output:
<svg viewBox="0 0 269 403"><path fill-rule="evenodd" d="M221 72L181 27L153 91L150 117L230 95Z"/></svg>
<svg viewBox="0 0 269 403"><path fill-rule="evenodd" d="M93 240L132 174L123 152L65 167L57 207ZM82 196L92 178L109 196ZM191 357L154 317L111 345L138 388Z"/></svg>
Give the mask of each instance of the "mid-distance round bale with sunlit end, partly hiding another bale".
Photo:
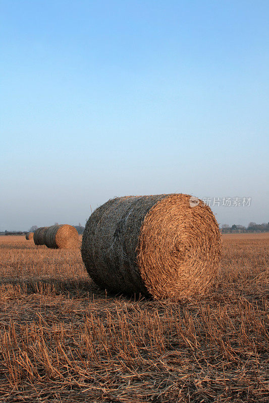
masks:
<svg viewBox="0 0 269 403"><path fill-rule="evenodd" d="M45 245L54 249L72 249L78 247L78 231L72 225L52 225L45 235Z"/></svg>

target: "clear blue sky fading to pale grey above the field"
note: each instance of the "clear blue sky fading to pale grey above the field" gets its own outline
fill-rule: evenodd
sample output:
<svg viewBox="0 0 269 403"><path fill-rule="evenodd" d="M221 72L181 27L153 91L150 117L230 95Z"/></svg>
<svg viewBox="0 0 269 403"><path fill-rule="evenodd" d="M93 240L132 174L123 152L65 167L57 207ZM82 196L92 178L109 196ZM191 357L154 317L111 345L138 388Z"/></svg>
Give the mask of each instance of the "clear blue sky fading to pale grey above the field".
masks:
<svg viewBox="0 0 269 403"><path fill-rule="evenodd" d="M251 197L269 221L268 0L2 0L0 230L114 196Z"/></svg>

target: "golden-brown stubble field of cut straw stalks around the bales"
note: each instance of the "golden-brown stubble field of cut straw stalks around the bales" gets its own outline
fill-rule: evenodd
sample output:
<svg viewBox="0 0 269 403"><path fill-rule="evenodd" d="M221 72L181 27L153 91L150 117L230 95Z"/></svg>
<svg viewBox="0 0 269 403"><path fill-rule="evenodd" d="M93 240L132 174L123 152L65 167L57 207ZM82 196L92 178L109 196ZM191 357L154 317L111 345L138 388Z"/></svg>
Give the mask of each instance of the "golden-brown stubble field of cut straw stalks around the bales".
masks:
<svg viewBox="0 0 269 403"><path fill-rule="evenodd" d="M0 237L0 400L268 401L268 245L224 235L212 288L172 303L100 291L80 250Z"/></svg>

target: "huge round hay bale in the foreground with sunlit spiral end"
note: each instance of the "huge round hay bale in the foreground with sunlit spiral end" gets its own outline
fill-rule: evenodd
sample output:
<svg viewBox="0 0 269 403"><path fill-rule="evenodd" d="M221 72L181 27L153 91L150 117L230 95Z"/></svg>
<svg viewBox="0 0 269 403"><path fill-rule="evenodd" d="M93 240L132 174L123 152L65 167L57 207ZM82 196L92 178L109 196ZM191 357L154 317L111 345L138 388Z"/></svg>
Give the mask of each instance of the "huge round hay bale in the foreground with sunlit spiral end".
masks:
<svg viewBox="0 0 269 403"><path fill-rule="evenodd" d="M221 236L210 208L190 197L118 197L96 209L81 249L94 282L157 299L205 292L218 270Z"/></svg>

